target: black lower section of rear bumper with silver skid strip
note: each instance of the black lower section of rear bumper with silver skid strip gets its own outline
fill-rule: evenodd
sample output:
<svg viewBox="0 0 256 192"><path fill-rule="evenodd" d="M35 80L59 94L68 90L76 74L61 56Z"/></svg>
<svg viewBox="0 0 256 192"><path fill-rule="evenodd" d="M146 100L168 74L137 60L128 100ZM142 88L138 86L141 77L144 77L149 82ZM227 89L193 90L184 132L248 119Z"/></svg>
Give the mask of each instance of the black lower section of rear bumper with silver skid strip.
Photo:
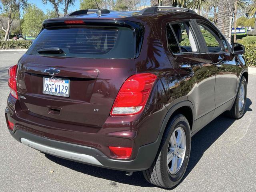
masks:
<svg viewBox="0 0 256 192"><path fill-rule="evenodd" d="M16 130L14 133L10 131L10 134L19 142L53 156L122 171L140 171L148 169L155 158L155 155L152 154L154 154L154 151L158 150L159 146L159 141L141 146L134 160L114 160L108 158L95 148L55 141L36 136L23 130Z"/></svg>

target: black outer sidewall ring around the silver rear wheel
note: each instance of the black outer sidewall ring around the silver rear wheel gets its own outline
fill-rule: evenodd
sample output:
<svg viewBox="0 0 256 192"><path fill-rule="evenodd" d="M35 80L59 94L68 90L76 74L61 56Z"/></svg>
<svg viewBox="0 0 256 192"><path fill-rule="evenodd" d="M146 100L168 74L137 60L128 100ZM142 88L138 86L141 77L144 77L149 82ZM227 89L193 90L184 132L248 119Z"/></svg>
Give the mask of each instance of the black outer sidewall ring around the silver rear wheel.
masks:
<svg viewBox="0 0 256 192"><path fill-rule="evenodd" d="M184 159L180 170L176 174L170 174L170 172L168 170L168 166L167 166L167 151L168 151L170 137L171 137L172 133L174 132L174 130L178 127L182 128L186 135L186 152L185 152L186 158ZM178 182L180 182L180 180L182 179L182 177L186 171L186 168L188 166L189 156L190 156L190 148L191 148L190 126L189 126L186 118L183 116L183 118L182 117L177 118L175 120L175 122L171 125L170 131L168 133L168 137L166 138L164 146L161 150L162 151L161 163L162 163L162 167L163 167L162 171L165 175L165 178L168 178L170 180L170 182L172 182L172 184L174 184L174 185L176 185Z"/></svg>

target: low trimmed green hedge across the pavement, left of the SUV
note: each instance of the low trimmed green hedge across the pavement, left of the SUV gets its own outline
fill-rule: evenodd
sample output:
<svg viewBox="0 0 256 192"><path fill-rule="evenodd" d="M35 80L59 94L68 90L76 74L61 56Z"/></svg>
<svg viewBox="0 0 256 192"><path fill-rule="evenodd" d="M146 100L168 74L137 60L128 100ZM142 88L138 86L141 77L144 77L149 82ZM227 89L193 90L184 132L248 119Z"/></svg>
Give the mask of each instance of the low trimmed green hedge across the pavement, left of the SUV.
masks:
<svg viewBox="0 0 256 192"><path fill-rule="evenodd" d="M0 41L0 49L27 49L32 41Z"/></svg>

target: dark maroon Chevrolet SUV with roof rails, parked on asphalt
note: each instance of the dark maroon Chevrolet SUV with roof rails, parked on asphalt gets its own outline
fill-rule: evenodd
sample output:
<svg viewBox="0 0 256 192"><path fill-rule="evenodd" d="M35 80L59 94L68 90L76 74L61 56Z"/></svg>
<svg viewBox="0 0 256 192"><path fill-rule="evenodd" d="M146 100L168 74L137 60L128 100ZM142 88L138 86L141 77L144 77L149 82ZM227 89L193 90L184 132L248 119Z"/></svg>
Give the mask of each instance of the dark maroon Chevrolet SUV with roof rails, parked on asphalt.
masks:
<svg viewBox="0 0 256 192"><path fill-rule="evenodd" d="M186 171L191 136L225 111L244 114L242 54L244 46L230 46L184 8L72 12L45 20L10 68L6 122L41 152L143 171L172 188Z"/></svg>

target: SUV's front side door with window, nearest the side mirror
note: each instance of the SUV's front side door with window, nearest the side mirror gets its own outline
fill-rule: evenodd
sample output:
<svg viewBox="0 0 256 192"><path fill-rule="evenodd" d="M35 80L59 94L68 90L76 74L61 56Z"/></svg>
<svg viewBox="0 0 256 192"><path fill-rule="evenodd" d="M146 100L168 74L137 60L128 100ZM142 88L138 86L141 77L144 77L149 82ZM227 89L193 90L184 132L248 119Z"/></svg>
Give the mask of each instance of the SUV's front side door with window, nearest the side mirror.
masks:
<svg viewBox="0 0 256 192"><path fill-rule="evenodd" d="M240 69L234 56L230 54L230 46L220 32L209 22L196 22L203 43L216 67L214 99L217 108L235 97Z"/></svg>

